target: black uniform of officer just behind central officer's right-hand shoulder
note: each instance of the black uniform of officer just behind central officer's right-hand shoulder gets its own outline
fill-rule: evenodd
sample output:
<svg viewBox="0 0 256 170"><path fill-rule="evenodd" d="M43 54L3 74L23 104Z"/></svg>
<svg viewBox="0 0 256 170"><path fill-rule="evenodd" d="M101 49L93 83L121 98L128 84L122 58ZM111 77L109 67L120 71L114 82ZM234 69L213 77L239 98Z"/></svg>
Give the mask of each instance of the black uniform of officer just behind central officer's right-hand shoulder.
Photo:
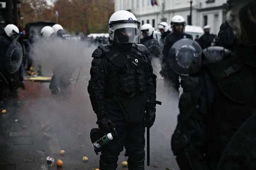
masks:
<svg viewBox="0 0 256 170"><path fill-rule="evenodd" d="M142 38L140 43L145 45L154 57L160 57L161 47L159 42L153 38L153 35Z"/></svg>

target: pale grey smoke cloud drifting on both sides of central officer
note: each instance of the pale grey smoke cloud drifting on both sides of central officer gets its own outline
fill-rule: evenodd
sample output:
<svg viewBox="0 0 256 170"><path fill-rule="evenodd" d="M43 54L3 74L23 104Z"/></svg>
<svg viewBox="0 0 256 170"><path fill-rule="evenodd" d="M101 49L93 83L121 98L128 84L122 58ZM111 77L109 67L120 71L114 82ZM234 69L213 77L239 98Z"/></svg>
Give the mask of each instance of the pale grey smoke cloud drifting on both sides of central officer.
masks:
<svg viewBox="0 0 256 170"><path fill-rule="evenodd" d="M61 66L65 70L65 64L62 63L75 68L82 66L83 69L77 85L75 82L71 85L73 95L69 101L51 96L48 89L49 83L46 83L43 85L44 88L38 90L40 97L30 105L29 112L32 115L30 119L35 122L33 124L35 133L41 132L41 124L54 125L49 133L57 134L61 149L70 153L69 156L78 157L78 159L89 156L89 164L91 164L89 166L97 167L99 156L96 156L93 151L89 135L90 129L97 127L96 115L87 93L91 55L96 46L88 47L88 45L88 42L58 39L42 39L33 45L32 56L36 62L35 66L41 64L45 75L52 74L52 69L56 66ZM170 150L170 139L177 122L178 97L171 92L171 88L164 87L163 80L159 79L159 59L153 59L152 65L158 77L157 100L161 101L162 105L157 105L156 122L151 127L151 162L173 167L175 161ZM74 71L72 78L76 78L77 74L78 69ZM82 133L81 137L77 135L78 132ZM86 149L83 150L81 144L84 144ZM120 159L125 160L122 157Z"/></svg>

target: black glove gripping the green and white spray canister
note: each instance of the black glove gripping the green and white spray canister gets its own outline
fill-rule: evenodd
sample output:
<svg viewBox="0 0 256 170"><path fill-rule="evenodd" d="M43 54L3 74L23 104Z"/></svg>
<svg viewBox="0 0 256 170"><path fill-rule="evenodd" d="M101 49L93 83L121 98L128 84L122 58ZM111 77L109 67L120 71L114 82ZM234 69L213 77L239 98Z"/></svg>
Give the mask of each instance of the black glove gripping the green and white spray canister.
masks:
<svg viewBox="0 0 256 170"><path fill-rule="evenodd" d="M96 124L99 125L99 130L104 134L111 133L116 128L111 120L108 119L108 115L104 113L97 115L97 119Z"/></svg>

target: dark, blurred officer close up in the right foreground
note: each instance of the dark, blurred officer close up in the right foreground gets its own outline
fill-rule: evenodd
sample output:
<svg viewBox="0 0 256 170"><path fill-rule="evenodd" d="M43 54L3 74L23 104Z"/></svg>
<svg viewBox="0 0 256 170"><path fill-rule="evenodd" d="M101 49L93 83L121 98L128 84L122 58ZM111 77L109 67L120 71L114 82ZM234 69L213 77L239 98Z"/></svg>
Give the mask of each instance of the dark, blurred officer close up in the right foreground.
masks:
<svg viewBox="0 0 256 170"><path fill-rule="evenodd" d="M228 2L238 45L206 48L190 65L172 135L180 170L256 169L256 1Z"/></svg>

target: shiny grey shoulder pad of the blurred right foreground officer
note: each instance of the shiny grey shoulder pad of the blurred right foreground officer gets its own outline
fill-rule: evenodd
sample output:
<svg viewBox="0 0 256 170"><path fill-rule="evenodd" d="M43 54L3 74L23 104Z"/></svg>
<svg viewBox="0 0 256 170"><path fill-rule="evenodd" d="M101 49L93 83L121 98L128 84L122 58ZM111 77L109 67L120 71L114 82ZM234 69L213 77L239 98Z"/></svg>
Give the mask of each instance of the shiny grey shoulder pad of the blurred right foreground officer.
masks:
<svg viewBox="0 0 256 170"><path fill-rule="evenodd" d="M207 62L214 63L226 58L229 54L231 54L231 51L224 47L214 46L205 48L203 53Z"/></svg>

